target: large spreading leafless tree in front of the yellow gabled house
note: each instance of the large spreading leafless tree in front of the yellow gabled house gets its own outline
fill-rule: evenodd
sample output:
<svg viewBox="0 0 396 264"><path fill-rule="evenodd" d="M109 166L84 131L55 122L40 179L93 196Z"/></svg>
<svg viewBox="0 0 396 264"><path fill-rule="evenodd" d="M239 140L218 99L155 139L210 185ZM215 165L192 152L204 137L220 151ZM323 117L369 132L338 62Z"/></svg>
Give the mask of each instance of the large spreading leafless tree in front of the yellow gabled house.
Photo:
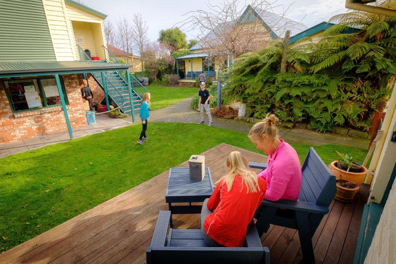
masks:
<svg viewBox="0 0 396 264"><path fill-rule="evenodd" d="M284 15L272 12L278 7L276 0L253 0L242 9L239 2L223 0L219 5L208 3L208 11L188 12L185 14L187 18L180 23L185 31L198 30L200 48L220 67L225 67L228 57L235 58L267 47L275 35L283 37L286 28L292 26L286 25L291 19L283 19ZM299 24L298 21L293 23Z"/></svg>

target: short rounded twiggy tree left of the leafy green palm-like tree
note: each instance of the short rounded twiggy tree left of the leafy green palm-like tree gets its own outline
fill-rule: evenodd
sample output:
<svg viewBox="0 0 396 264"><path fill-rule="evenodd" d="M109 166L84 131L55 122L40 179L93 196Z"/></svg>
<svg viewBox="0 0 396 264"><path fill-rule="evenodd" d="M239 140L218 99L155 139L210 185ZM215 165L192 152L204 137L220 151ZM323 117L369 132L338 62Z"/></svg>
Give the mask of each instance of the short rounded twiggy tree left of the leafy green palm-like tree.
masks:
<svg viewBox="0 0 396 264"><path fill-rule="evenodd" d="M169 55L167 48L158 41L147 44L143 51L142 60L145 69L150 73L150 77L157 80L157 74L173 65L174 59Z"/></svg>

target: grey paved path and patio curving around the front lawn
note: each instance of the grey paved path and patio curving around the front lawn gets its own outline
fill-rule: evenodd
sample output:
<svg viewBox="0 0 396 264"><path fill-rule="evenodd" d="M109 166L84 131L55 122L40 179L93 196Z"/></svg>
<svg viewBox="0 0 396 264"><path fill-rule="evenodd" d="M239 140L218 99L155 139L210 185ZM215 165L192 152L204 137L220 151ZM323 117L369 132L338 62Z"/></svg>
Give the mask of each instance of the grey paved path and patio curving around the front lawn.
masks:
<svg viewBox="0 0 396 264"><path fill-rule="evenodd" d="M191 98L187 98L179 103L169 105L155 111L150 111L149 122L183 122L198 123L200 121L199 111L192 110L190 107ZM131 117L125 119L112 119L109 116L96 115L96 123L88 126L82 126L73 129L74 138L81 138L91 134L96 134L133 124ZM139 120L139 117L137 117ZM206 124L209 123L208 117L205 117ZM206 124L203 124L206 125ZM238 122L222 118L213 117L213 126L230 130L248 133L252 124L247 122ZM282 139L288 143L315 145L346 145L352 147L367 148L369 140L360 138L351 138L347 136L324 134L308 129L285 129L279 128L279 134ZM69 132L60 132L50 135L36 136L27 140L14 143L0 143L0 157L6 157L11 154L20 153L28 150L38 149L48 145L70 140Z"/></svg>

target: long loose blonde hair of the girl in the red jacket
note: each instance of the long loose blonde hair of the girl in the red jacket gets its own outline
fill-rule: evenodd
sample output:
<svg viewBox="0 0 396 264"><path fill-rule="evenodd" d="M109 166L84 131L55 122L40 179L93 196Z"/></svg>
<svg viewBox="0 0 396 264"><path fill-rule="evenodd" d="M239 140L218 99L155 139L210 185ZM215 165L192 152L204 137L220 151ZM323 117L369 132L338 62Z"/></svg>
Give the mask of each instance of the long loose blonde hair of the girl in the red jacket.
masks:
<svg viewBox="0 0 396 264"><path fill-rule="evenodd" d="M230 153L227 158L227 167L230 169L230 172L216 184L227 184L228 191L231 191L235 176L240 175L242 178L242 188L246 184L247 193L260 191L257 175L249 170L246 159L239 151L232 151Z"/></svg>

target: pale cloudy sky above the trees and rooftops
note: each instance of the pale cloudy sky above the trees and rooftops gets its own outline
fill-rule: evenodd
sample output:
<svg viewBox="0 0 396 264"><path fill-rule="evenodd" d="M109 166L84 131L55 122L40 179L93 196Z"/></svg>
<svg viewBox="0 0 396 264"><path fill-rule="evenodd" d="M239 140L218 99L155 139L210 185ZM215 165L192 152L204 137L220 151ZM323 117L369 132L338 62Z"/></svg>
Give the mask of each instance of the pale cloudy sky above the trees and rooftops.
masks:
<svg viewBox="0 0 396 264"><path fill-rule="evenodd" d="M148 37L151 40L158 38L161 29L168 29L186 19L183 14L197 9L208 10L208 0L194 1L159 1L159 0L82 0L87 6L108 15L107 19L115 22L124 15L132 20L134 13L141 13L147 21ZM212 5L223 2L210 0ZM240 1L241 9L250 1ZM322 21L327 21L333 15L345 13L345 0L278 0L275 13L284 13L295 20L302 22L309 28ZM291 5L291 6L290 6ZM194 38L194 32L186 32L187 39ZM197 33L195 33L197 34Z"/></svg>

